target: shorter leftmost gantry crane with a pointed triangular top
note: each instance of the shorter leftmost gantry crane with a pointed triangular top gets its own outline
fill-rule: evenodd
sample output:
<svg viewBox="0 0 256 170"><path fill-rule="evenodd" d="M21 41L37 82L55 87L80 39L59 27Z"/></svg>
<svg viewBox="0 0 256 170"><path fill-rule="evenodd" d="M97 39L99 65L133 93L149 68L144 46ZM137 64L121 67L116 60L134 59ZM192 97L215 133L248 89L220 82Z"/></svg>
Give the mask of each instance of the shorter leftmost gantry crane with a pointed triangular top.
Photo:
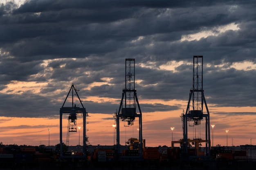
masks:
<svg viewBox="0 0 256 170"><path fill-rule="evenodd" d="M70 92L72 91L72 107L64 107L65 102L67 101L68 96L70 95ZM68 127L67 127L67 142L69 141L69 132L76 132L76 120L77 115L82 114L83 115L83 157L86 157L86 116L88 113L86 112L86 109L84 108L81 99L78 95L79 90L77 90L74 86L74 84L71 85L70 91L67 94L67 97L60 108L60 156L63 157L63 148L62 148L62 116L63 113L68 113ZM82 108L77 107L76 104L74 104L74 93L75 96L79 99L79 102L82 106ZM68 146L68 144L67 144Z"/></svg>

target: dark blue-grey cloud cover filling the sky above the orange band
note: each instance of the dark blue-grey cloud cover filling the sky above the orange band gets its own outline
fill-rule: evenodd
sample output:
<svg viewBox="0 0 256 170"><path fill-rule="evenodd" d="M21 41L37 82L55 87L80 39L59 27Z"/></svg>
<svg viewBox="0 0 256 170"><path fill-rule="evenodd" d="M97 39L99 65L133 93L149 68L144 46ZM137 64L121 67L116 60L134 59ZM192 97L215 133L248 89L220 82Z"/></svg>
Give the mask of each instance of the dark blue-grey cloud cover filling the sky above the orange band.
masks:
<svg viewBox="0 0 256 170"><path fill-rule="evenodd" d="M256 71L231 68L234 62L256 63L255 7L253 0L31 0L20 7L13 2L1 4L0 89L13 80L47 83L38 94L33 89L1 93L1 113L56 115L74 83L81 89L79 95L89 113L112 114L119 108L124 88L125 58L135 58L135 79L141 80L135 85L139 99L188 100L193 55L204 56L208 104L256 106ZM232 23L239 29L218 30ZM201 31L219 34L180 41L182 36ZM184 63L175 72L159 69L170 61ZM106 77L112 79L103 79ZM87 90L94 82L101 84ZM117 103L92 102L88 96L115 98ZM180 109L179 105L162 104L142 107L146 112Z"/></svg>

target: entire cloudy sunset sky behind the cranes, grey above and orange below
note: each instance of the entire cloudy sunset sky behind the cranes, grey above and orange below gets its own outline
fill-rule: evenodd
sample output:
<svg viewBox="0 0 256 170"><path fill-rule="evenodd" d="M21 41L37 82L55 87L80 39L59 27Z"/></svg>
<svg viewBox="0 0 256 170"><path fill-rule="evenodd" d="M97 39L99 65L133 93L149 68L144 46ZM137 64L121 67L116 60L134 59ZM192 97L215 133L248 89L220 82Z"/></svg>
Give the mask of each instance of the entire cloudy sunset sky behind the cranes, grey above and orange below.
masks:
<svg viewBox="0 0 256 170"><path fill-rule="evenodd" d="M226 145L226 129L228 145L250 144L251 138L256 144L254 0L0 2L4 144L47 145L47 128L52 128L51 144L58 144L59 108L74 83L89 115L90 144L112 145L125 59L135 58L146 146L171 146L170 127L174 140L182 138L180 115L193 87L193 55L204 59L214 145ZM137 137L137 128L137 120L121 128L121 144ZM196 127L198 134L191 128L193 138L205 127ZM70 135L70 145L76 144L78 133Z"/></svg>

